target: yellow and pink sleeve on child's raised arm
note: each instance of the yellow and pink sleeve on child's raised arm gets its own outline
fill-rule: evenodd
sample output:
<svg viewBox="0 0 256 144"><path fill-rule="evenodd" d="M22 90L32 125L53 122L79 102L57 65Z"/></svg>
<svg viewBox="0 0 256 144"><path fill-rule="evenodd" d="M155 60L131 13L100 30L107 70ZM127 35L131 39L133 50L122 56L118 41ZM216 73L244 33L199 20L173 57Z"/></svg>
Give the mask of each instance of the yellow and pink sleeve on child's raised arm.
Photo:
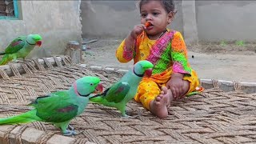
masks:
<svg viewBox="0 0 256 144"><path fill-rule="evenodd" d="M125 40L123 40L118 46L118 49L116 50L115 56L118 58L119 62L125 63L130 62L134 58L135 52L134 52L135 42L134 46L131 50L126 49Z"/></svg>

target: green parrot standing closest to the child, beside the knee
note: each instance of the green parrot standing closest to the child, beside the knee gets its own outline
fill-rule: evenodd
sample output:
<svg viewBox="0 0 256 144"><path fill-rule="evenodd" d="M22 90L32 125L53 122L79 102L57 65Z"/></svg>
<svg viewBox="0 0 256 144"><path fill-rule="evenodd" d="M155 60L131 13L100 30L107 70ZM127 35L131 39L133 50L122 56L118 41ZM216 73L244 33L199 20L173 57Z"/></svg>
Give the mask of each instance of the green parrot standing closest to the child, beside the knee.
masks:
<svg viewBox="0 0 256 144"><path fill-rule="evenodd" d="M122 117L130 117L126 114L126 103L134 98L144 74L150 77L153 67L154 65L146 60L137 62L133 70L128 71L102 94L90 96L90 102L115 107L122 113Z"/></svg>

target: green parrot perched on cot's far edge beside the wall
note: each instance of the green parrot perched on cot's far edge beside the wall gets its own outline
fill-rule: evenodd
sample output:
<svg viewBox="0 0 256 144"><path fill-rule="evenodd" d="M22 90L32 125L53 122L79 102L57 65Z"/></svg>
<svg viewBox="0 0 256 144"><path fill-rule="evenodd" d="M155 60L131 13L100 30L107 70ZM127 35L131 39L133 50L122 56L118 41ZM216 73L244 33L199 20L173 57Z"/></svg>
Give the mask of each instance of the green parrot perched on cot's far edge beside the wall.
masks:
<svg viewBox="0 0 256 144"><path fill-rule="evenodd" d="M3 55L0 65L5 65L6 63L13 60L17 61L17 58L26 58L30 51L34 49L34 46L41 46L42 37L38 34L30 34L28 36L20 36L15 38L10 45L7 46L6 50L0 55Z"/></svg>

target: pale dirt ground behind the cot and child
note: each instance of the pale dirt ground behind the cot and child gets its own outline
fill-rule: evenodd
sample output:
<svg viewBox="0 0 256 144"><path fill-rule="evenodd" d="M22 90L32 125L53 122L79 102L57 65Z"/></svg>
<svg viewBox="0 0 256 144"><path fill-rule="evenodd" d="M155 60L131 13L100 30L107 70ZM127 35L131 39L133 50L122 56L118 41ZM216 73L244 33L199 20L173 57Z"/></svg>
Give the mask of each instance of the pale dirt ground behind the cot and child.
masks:
<svg viewBox="0 0 256 144"><path fill-rule="evenodd" d="M87 43L83 63L130 70L133 62L120 63L115 58L115 50L121 42L122 39L98 39ZM201 43L187 46L187 49L190 65L199 78L256 82L256 44Z"/></svg>

